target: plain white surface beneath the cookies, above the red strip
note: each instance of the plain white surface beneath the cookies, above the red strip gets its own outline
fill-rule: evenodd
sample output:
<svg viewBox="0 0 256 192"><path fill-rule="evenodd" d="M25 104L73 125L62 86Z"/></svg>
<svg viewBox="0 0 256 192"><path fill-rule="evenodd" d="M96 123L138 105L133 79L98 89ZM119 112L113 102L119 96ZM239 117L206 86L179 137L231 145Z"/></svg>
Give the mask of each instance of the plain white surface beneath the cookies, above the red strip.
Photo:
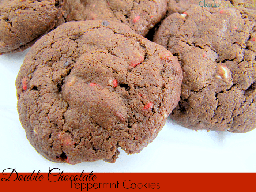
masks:
<svg viewBox="0 0 256 192"><path fill-rule="evenodd" d="M169 117L157 138L139 154L120 149L116 163L54 163L26 138L16 109L15 79L28 50L0 56L0 172L256 172L256 130L248 133L192 131ZM227 178L228 179L228 178Z"/></svg>

